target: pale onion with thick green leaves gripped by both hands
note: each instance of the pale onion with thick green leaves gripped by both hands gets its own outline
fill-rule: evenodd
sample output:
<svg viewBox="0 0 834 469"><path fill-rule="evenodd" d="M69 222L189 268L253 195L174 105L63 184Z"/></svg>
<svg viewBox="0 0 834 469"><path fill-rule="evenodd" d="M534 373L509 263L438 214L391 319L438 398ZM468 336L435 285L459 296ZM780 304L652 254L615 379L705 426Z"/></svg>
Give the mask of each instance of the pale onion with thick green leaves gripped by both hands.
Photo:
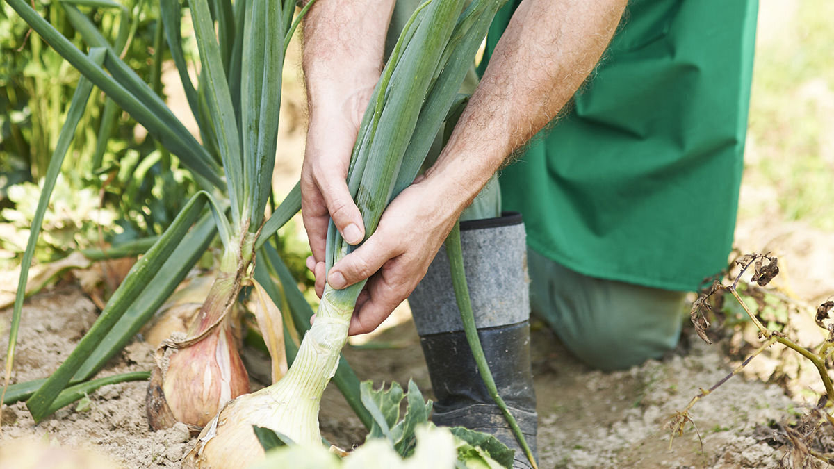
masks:
<svg viewBox="0 0 834 469"><path fill-rule="evenodd" d="M384 207L417 175L446 113L455 101L491 18L504 0L430 0L409 19L374 88L354 146L348 187L374 233ZM430 113L424 113L430 109ZM412 143L412 136L427 138ZM430 139L428 138L430 136ZM425 149L425 150L424 150ZM400 187L402 186L402 187ZM331 222L328 269L348 245ZM186 467L244 467L264 451L252 426L276 431L301 445L320 445L318 412L324 388L339 363L350 317L364 281L344 290L325 286L312 328L284 378L230 401L203 429Z"/></svg>

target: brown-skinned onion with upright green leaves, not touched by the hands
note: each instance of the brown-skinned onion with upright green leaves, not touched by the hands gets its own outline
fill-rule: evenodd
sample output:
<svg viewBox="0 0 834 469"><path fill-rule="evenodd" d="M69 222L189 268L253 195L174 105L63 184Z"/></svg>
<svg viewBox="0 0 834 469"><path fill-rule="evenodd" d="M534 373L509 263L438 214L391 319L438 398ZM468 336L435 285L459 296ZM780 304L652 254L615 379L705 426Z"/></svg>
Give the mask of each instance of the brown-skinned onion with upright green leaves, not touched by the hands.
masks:
<svg viewBox="0 0 834 469"><path fill-rule="evenodd" d="M218 42L208 1L189 0L188 5L203 64L200 79L206 93L201 98L211 113L208 130L214 131L225 170L230 219L226 209L208 196L224 245L221 273L188 338L167 340L157 352L156 379L148 386L147 398L148 420L154 428L183 421L199 429L229 399L249 391L231 333L232 311L240 290L249 284L255 240L264 224L278 136L274 108L280 103L284 38L292 34L287 20L294 10L289 2L239 3L241 76L239 83L229 83L224 68L231 53L224 40L227 30L221 25ZM268 33L270 27L285 35Z"/></svg>

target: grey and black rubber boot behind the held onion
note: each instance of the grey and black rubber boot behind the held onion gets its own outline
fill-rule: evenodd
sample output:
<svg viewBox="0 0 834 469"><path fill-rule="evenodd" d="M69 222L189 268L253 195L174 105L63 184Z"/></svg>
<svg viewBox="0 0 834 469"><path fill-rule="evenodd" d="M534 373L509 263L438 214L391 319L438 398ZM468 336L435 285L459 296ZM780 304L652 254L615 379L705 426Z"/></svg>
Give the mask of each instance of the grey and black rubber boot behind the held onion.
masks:
<svg viewBox="0 0 834 469"><path fill-rule="evenodd" d="M499 395L535 455L537 415L530 372L530 297L520 214L461 222L466 280L475 325ZM513 467L530 462L486 390L466 341L441 248L409 297L437 402L432 421L483 431L515 449Z"/></svg>

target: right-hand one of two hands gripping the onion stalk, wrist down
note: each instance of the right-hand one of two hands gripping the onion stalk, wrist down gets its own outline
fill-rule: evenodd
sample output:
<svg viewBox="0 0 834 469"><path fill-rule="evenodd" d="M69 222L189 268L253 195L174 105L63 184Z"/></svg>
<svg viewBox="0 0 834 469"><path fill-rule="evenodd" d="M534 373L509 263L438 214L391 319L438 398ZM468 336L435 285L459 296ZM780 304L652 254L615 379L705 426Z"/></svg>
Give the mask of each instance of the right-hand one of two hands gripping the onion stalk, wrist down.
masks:
<svg viewBox="0 0 834 469"><path fill-rule="evenodd" d="M374 234L329 271L328 283L336 289L369 279L356 301L349 335L376 329L425 276L460 214L442 194L425 179L404 189L385 209ZM322 267L316 278L323 276Z"/></svg>

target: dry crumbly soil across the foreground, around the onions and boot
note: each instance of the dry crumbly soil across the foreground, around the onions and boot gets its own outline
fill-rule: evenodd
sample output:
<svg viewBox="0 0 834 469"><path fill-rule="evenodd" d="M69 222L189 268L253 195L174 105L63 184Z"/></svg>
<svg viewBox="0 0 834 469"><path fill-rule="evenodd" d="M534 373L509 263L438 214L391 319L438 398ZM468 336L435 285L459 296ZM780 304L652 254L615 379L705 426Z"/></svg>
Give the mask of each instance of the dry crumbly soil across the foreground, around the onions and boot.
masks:
<svg viewBox="0 0 834 469"><path fill-rule="evenodd" d="M28 381L53 371L93 323L97 309L78 288L58 285L29 300L18 340L13 381ZM431 396L428 371L407 310L398 325L374 336L389 348L348 347L345 355L363 380L405 384L413 379ZM8 324L10 310L0 314ZM404 320L403 320L404 319ZM392 322L397 322L394 320ZM5 338L3 340L6 340ZM6 343L0 340L0 347ZM670 445L665 428L700 387L709 387L731 371L721 343L706 345L689 332L679 350L661 361L628 371L593 371L575 361L544 327L532 333L535 391L540 416L541 467L599 466L746 466L776 467L786 448L772 447L761 428L782 422L800 404L775 384L734 377L691 411L697 431L687 426ZM113 359L102 375L148 370L153 350L141 340ZM251 359L255 352L246 357ZM252 373L259 375L257 367ZM149 431L144 414L145 382L107 386L34 424L24 404L3 416L3 443L34 438L49 445L88 448L124 467L171 467L193 445L184 426ZM254 382L254 386L262 386ZM344 398L327 391L320 416L324 436L343 448L364 440L364 429ZM3 450L0 450L0 455ZM7 460L8 461L8 460ZM0 466L3 461L0 460Z"/></svg>

